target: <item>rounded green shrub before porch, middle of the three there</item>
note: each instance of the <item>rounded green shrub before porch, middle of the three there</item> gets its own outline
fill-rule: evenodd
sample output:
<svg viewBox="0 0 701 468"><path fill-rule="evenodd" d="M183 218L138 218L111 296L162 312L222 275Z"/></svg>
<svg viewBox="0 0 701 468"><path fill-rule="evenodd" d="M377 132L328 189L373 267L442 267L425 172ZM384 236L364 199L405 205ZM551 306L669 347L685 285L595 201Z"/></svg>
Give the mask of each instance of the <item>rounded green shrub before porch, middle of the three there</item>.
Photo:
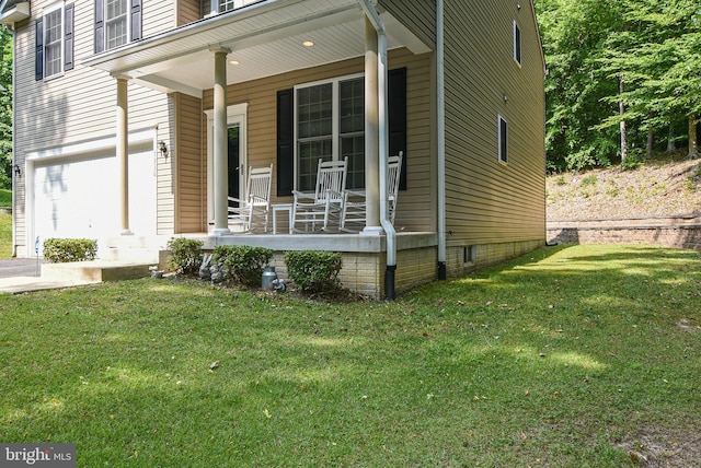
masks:
<svg viewBox="0 0 701 468"><path fill-rule="evenodd" d="M215 248L211 264L225 281L260 286L263 269L273 258L273 250L248 245L220 245Z"/></svg>

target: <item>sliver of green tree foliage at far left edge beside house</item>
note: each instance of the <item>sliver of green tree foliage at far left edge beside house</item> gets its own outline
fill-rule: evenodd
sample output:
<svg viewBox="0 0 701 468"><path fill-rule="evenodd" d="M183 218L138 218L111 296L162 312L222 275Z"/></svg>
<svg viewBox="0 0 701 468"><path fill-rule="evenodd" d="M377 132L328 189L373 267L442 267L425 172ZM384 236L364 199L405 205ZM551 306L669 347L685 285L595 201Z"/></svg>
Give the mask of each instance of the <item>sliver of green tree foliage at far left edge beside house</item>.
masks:
<svg viewBox="0 0 701 468"><path fill-rule="evenodd" d="M0 26L0 188L12 187L12 35Z"/></svg>

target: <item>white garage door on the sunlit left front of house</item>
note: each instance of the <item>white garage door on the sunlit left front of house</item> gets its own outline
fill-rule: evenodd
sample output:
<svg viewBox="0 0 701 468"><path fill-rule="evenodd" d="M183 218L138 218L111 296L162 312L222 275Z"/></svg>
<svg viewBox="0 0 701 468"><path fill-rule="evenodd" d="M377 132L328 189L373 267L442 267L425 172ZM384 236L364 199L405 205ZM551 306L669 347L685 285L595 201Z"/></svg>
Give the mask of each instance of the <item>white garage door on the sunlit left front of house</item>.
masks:
<svg viewBox="0 0 701 468"><path fill-rule="evenodd" d="M100 238L119 234L117 160L114 155L36 164L34 235ZM156 234L153 152L129 155L129 222L135 235Z"/></svg>

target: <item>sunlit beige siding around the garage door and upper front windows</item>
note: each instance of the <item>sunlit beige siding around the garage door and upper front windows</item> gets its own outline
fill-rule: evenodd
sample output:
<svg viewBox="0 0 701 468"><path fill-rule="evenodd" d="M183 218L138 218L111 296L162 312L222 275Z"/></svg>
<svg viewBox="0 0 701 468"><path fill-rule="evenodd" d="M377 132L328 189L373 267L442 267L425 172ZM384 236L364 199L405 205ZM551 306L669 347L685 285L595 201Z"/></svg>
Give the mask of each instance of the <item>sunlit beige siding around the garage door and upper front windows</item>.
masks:
<svg viewBox="0 0 701 468"><path fill-rule="evenodd" d="M30 21L18 24L15 35L15 128L16 160L24 164L24 154L44 149L60 148L70 143L104 139L115 134L116 81L103 71L81 65L85 57L94 54L94 3L74 2L74 58L73 70L50 79L35 81L34 74L34 19L39 17L50 1L33 1ZM143 34L163 30L151 25L159 10L170 1L145 0ZM149 14L146 14L150 10ZM137 84L128 85L129 131L150 129L159 126L159 138L168 139L168 97ZM159 160L159 187L162 177L162 162ZM168 207L172 212L172 189L170 198L160 199L164 191L159 189L159 208ZM24 189L22 187L22 192ZM22 200L23 203L23 200ZM18 244L25 243L25 207L18 207ZM159 219L159 232L172 232L171 219Z"/></svg>

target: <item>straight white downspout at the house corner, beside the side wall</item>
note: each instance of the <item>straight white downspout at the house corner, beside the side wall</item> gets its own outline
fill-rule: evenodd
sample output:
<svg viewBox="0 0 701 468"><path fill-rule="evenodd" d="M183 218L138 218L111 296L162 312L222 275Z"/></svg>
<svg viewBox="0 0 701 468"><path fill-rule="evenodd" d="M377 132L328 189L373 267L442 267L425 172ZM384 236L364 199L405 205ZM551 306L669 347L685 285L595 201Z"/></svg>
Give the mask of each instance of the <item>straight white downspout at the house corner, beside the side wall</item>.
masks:
<svg viewBox="0 0 701 468"><path fill-rule="evenodd" d="M443 0L436 0L436 87L438 132L438 280L446 280L446 79Z"/></svg>

